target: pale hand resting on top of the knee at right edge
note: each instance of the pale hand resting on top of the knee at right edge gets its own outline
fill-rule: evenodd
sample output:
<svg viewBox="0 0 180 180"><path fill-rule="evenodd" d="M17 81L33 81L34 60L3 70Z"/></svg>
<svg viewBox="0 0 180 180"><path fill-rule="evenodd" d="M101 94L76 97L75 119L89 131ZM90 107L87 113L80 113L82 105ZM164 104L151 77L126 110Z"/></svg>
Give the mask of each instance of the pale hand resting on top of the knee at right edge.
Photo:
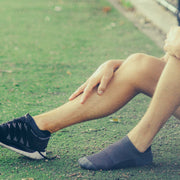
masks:
<svg viewBox="0 0 180 180"><path fill-rule="evenodd" d="M180 59L180 27L172 27L167 34L164 50L171 56Z"/></svg>

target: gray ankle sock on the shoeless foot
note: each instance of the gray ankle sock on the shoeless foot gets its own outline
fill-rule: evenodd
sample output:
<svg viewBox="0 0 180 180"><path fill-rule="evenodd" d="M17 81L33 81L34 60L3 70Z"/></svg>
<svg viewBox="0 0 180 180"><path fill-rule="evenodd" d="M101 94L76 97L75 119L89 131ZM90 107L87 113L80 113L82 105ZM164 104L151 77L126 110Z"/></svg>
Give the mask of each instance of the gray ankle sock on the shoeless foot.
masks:
<svg viewBox="0 0 180 180"><path fill-rule="evenodd" d="M79 165L89 170L112 170L144 166L152 163L152 152L149 147L144 153L139 152L128 136L110 145L103 151L79 159Z"/></svg>

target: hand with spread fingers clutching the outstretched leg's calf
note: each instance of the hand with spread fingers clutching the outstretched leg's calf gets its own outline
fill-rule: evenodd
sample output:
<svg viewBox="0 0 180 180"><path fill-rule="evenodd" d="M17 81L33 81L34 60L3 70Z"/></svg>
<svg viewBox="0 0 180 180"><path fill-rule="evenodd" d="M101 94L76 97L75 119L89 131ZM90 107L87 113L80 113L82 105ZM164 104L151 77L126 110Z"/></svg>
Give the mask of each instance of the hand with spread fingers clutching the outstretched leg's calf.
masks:
<svg viewBox="0 0 180 180"><path fill-rule="evenodd" d="M121 60L109 60L103 63L91 76L82 84L69 98L69 100L75 99L77 96L83 93L81 97L81 103L85 103L94 87L98 86L97 93L102 95L106 90L106 87L112 79L114 72L122 64Z"/></svg>

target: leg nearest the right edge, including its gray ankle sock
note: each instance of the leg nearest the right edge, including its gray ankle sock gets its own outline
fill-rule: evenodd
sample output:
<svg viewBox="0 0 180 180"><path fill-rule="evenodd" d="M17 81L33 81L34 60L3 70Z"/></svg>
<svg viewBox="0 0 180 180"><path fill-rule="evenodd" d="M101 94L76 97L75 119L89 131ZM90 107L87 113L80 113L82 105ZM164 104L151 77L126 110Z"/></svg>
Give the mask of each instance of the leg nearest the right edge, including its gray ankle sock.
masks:
<svg viewBox="0 0 180 180"><path fill-rule="evenodd" d="M154 136L180 104L180 61L170 57L160 76L152 102L138 125L128 136L103 151L79 159L89 170L109 170L152 163L151 143Z"/></svg>

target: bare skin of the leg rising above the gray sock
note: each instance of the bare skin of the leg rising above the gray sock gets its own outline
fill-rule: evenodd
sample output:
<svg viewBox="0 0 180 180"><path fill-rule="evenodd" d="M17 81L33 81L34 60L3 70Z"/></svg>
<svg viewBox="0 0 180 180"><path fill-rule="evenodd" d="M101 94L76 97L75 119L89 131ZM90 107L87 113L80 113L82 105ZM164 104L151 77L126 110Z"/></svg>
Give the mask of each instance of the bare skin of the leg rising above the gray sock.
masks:
<svg viewBox="0 0 180 180"><path fill-rule="evenodd" d="M180 61L169 57L159 79L151 104L139 124L128 134L139 151L144 152L154 136L180 104ZM176 116L179 108L174 113Z"/></svg>

